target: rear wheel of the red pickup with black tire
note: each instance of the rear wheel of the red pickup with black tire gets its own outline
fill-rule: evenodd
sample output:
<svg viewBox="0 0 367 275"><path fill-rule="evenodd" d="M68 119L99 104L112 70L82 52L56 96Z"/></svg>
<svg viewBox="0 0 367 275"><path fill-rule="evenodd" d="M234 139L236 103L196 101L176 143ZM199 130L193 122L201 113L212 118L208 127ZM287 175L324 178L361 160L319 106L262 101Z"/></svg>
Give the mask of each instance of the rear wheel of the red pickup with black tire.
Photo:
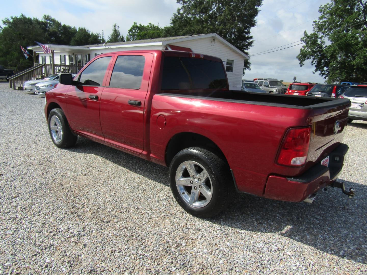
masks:
<svg viewBox="0 0 367 275"><path fill-rule="evenodd" d="M189 166L191 171L195 168L195 172L190 173ZM196 176L193 176L195 173ZM207 179L200 181L200 175ZM221 158L203 148L189 147L179 151L172 159L170 185L176 201L186 212L208 218L228 205L233 180L228 165ZM190 203L192 197L197 197L195 203Z"/></svg>

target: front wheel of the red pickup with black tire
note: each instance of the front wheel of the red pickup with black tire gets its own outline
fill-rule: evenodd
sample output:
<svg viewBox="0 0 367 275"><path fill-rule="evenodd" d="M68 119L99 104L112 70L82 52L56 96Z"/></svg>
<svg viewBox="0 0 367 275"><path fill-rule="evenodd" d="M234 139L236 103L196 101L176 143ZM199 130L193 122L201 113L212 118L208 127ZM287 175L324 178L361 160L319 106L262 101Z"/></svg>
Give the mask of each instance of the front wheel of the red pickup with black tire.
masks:
<svg viewBox="0 0 367 275"><path fill-rule="evenodd" d="M60 108L52 109L48 115L48 131L52 142L59 148L74 146L78 138L70 130L68 120Z"/></svg>

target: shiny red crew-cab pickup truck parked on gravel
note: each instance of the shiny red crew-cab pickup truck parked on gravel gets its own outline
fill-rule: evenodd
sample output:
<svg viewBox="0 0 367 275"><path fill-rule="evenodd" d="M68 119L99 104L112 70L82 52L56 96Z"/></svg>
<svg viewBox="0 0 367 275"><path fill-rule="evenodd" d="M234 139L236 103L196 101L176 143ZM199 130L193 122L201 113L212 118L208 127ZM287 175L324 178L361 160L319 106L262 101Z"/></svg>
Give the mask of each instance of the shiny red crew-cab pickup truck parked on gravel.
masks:
<svg viewBox="0 0 367 275"><path fill-rule="evenodd" d="M44 110L57 147L84 136L169 166L175 199L199 217L219 213L235 190L312 202L335 183L348 151L348 99L228 87L219 58L113 52L74 79L61 74Z"/></svg>

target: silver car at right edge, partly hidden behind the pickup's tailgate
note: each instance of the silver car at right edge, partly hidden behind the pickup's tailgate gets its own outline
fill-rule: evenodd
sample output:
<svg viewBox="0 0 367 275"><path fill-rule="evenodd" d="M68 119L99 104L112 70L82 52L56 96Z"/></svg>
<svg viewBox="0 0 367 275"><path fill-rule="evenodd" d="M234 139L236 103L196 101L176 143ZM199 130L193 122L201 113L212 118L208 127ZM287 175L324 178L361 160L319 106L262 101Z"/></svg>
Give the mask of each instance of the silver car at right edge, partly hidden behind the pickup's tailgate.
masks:
<svg viewBox="0 0 367 275"><path fill-rule="evenodd" d="M352 103L349 107L348 122L367 121L367 85L350 86L339 98L348 98Z"/></svg>

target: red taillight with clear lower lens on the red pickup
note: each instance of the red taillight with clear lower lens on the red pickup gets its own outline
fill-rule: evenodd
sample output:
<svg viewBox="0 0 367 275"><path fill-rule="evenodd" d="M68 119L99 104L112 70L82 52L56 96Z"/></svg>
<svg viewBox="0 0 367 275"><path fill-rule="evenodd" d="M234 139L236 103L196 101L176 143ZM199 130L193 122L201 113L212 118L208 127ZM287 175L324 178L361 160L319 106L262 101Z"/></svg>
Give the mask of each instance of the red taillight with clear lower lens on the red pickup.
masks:
<svg viewBox="0 0 367 275"><path fill-rule="evenodd" d="M310 146L311 126L291 128L284 136L277 163L287 166L301 166L306 163Z"/></svg>

